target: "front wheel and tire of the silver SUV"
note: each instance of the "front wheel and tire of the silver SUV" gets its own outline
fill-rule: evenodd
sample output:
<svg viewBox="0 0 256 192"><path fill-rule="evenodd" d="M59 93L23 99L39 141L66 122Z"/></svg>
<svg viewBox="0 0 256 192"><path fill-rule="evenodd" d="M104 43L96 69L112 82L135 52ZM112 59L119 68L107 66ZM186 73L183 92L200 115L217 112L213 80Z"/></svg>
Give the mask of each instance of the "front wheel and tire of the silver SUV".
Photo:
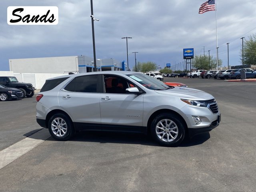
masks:
<svg viewBox="0 0 256 192"><path fill-rule="evenodd" d="M161 121L162 124L160 124ZM162 127L162 129L157 127ZM185 137L185 126L180 117L171 113L162 113L156 116L151 123L150 131L153 139L166 147L178 146Z"/></svg>

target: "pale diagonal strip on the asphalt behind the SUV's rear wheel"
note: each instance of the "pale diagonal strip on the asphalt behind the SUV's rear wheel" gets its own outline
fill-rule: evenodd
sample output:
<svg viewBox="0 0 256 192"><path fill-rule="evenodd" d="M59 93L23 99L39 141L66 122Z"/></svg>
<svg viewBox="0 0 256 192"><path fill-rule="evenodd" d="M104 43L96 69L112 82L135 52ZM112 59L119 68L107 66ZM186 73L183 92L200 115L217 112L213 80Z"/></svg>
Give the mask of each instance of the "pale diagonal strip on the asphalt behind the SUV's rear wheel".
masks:
<svg viewBox="0 0 256 192"><path fill-rule="evenodd" d="M42 129L35 134L13 144L12 146L0 151L0 169L10 164L20 156L32 150L40 143L50 137L48 129Z"/></svg>

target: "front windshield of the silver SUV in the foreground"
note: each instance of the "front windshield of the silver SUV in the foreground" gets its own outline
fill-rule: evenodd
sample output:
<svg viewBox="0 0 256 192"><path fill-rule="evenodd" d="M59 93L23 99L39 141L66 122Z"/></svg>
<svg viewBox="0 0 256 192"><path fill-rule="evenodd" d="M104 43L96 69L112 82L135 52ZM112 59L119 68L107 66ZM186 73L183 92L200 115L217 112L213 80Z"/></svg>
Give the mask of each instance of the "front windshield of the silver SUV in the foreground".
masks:
<svg viewBox="0 0 256 192"><path fill-rule="evenodd" d="M164 84L163 82L142 73L134 73L134 74L129 74L127 76L129 76L133 80L136 80L139 84L151 90L170 89L170 87Z"/></svg>

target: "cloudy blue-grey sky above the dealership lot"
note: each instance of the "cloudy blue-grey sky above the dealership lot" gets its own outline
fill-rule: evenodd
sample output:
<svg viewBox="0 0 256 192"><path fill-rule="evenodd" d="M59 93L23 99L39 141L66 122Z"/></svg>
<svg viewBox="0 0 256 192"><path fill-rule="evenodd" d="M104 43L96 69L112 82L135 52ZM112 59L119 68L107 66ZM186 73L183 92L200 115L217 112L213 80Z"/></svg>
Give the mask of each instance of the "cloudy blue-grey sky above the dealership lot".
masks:
<svg viewBox="0 0 256 192"><path fill-rule="evenodd" d="M215 11L198 14L206 0L93 0L96 58L152 61L161 67L183 60L183 48L216 57ZM93 57L90 0L0 0L0 71L9 59L86 55ZM57 25L8 25L8 6L57 6ZM240 64L241 37L256 33L255 0L217 0L219 58Z"/></svg>

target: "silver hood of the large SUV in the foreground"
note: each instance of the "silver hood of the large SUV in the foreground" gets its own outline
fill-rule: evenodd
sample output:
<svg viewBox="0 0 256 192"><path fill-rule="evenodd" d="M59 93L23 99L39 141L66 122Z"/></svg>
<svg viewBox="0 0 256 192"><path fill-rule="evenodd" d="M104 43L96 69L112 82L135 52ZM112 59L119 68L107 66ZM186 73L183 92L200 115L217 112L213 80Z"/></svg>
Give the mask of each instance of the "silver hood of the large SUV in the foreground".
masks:
<svg viewBox="0 0 256 192"><path fill-rule="evenodd" d="M165 94L170 96L175 96L188 100L211 100L214 97L201 90L185 88L185 87L174 87L168 90L155 90L158 94Z"/></svg>

